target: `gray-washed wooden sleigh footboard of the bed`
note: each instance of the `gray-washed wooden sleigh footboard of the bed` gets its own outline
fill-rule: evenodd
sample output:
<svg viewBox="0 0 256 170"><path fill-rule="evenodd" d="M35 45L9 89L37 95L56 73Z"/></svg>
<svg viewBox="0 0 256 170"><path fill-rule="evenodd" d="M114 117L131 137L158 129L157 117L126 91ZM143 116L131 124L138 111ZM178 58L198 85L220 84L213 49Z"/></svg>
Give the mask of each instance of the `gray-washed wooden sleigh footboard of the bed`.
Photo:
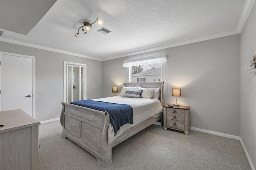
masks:
<svg viewBox="0 0 256 170"><path fill-rule="evenodd" d="M108 112L64 102L62 105L62 138L69 138L90 152L102 166L110 165L112 147L108 144Z"/></svg>

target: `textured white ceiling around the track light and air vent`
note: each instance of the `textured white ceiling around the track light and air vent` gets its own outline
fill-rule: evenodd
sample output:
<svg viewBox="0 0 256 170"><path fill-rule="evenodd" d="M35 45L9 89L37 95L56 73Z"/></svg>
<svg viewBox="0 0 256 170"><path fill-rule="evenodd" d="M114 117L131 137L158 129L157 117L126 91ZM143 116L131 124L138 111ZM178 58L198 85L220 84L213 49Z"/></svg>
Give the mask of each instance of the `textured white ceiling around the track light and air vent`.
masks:
<svg viewBox="0 0 256 170"><path fill-rule="evenodd" d="M26 1L31 0L22 2ZM12 21L25 12L22 8L4 15L14 3L5 2L10 4L1 4L0 16L4 20ZM239 34L253 3L254 0L57 0L26 35L13 32L14 26L0 22L0 41L104 61ZM40 6L27 7L30 16L39 15ZM82 26L79 20L94 21L97 17L102 26L95 23L87 34L80 31L78 37L74 36ZM25 22L32 20L25 18ZM104 35L96 31L102 27L112 32Z"/></svg>

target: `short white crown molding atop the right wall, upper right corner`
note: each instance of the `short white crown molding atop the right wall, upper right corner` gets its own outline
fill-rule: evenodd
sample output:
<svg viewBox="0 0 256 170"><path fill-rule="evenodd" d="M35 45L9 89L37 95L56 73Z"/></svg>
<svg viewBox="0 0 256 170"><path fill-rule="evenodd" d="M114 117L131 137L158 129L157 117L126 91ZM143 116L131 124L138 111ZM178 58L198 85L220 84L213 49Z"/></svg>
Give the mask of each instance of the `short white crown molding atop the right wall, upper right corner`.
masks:
<svg viewBox="0 0 256 170"><path fill-rule="evenodd" d="M242 10L242 14L241 14L238 24L236 26L236 30L239 33L241 33L244 28L244 24L252 10L252 6L253 6L254 2L255 2L255 0L246 0L244 3L244 8Z"/></svg>

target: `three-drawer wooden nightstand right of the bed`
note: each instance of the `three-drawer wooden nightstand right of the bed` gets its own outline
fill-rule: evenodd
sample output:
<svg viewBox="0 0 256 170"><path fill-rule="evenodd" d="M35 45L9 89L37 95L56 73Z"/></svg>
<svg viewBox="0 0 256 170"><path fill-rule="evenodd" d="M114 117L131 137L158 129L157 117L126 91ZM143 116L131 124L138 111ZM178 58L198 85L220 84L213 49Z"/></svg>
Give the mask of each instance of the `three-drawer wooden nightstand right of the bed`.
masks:
<svg viewBox="0 0 256 170"><path fill-rule="evenodd" d="M190 106L164 105L163 121L164 130L170 128L188 134L190 130Z"/></svg>

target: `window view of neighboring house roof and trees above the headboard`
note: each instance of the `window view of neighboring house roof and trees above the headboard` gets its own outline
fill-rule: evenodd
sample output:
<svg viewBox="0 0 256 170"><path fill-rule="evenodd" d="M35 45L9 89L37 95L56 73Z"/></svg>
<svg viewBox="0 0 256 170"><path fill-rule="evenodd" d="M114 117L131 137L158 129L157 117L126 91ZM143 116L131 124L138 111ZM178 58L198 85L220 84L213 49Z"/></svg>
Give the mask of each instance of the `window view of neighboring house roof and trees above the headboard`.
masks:
<svg viewBox="0 0 256 170"><path fill-rule="evenodd" d="M162 63L132 66L132 82L161 81Z"/></svg>

